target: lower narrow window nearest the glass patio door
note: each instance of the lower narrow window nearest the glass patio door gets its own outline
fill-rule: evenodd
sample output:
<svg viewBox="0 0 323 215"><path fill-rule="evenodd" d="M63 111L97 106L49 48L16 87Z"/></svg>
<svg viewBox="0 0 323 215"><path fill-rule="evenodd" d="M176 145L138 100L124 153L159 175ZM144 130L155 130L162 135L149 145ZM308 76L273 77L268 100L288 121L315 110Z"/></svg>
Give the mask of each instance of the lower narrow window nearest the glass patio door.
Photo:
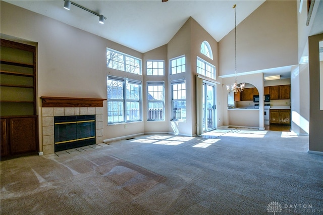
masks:
<svg viewBox="0 0 323 215"><path fill-rule="evenodd" d="M172 105L173 120L186 120L186 86L185 80L171 82L172 86Z"/></svg>

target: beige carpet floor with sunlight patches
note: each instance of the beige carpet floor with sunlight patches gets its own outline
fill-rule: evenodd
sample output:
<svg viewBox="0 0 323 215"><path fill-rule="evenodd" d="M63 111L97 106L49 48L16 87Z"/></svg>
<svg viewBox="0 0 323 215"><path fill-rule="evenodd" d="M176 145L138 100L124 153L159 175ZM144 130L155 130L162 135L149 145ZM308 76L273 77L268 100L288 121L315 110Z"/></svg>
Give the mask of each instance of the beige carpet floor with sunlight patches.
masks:
<svg viewBox="0 0 323 215"><path fill-rule="evenodd" d="M323 214L323 156L291 132L141 135L1 161L1 214Z"/></svg>

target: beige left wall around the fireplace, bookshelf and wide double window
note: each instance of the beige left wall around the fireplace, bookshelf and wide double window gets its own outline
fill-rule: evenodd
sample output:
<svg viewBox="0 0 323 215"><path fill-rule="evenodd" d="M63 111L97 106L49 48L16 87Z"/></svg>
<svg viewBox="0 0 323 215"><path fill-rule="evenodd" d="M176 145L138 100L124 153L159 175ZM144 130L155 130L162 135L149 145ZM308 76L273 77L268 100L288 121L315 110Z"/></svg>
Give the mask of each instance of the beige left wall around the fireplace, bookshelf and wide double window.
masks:
<svg viewBox="0 0 323 215"><path fill-rule="evenodd" d="M139 75L106 68L105 59L106 47L140 59L142 53L6 2L1 2L1 33L2 37L17 37L37 44L38 97L106 98L107 75L143 80ZM103 104L104 139L144 132L143 122L129 123L127 128L123 124L107 126L106 101ZM41 128L40 98L38 115ZM40 150L41 137L40 129Z"/></svg>

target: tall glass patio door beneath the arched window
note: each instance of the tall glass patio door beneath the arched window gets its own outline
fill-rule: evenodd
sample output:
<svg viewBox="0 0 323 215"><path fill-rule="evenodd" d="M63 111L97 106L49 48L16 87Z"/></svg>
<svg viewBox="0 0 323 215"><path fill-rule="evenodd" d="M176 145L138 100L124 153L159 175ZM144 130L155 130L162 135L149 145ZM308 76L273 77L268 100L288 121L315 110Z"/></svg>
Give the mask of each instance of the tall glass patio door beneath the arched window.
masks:
<svg viewBox="0 0 323 215"><path fill-rule="evenodd" d="M216 129L216 87L203 83L203 132Z"/></svg>

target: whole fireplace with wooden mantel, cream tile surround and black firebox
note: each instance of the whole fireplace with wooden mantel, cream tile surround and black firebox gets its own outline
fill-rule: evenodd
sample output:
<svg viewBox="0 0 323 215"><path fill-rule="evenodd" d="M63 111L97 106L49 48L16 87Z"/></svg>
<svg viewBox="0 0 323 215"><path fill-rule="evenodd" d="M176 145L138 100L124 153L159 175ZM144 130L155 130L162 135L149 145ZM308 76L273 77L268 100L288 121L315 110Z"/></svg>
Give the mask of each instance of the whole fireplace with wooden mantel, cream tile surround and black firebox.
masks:
<svg viewBox="0 0 323 215"><path fill-rule="evenodd" d="M41 97L39 154L103 143L104 98Z"/></svg>

